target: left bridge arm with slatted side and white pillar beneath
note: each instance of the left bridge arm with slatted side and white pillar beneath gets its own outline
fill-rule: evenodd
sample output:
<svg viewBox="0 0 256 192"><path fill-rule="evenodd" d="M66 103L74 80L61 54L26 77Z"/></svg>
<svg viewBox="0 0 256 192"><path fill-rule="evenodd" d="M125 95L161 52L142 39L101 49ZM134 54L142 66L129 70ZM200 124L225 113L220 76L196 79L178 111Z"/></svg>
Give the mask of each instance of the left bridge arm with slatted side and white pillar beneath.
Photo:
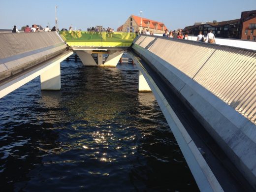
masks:
<svg viewBox="0 0 256 192"><path fill-rule="evenodd" d="M60 63L73 52L57 32L0 34L0 98L40 75L41 89L61 88Z"/></svg>

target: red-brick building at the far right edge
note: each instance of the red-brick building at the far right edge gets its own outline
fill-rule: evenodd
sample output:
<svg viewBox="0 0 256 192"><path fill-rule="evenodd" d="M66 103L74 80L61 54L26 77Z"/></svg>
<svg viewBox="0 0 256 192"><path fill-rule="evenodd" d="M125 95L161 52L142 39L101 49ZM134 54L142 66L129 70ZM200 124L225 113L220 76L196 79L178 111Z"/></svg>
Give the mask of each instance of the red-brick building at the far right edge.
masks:
<svg viewBox="0 0 256 192"><path fill-rule="evenodd" d="M256 10L241 13L240 38L256 41Z"/></svg>

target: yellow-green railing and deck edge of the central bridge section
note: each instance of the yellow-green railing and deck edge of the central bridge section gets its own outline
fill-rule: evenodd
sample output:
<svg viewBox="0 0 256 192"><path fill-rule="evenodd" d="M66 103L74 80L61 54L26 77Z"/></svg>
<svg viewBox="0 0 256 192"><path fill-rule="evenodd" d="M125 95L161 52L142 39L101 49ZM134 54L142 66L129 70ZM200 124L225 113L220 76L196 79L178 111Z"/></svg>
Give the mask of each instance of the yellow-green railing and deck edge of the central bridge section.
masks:
<svg viewBox="0 0 256 192"><path fill-rule="evenodd" d="M60 35L69 46L86 47L129 47L136 37L132 32L61 31Z"/></svg>

